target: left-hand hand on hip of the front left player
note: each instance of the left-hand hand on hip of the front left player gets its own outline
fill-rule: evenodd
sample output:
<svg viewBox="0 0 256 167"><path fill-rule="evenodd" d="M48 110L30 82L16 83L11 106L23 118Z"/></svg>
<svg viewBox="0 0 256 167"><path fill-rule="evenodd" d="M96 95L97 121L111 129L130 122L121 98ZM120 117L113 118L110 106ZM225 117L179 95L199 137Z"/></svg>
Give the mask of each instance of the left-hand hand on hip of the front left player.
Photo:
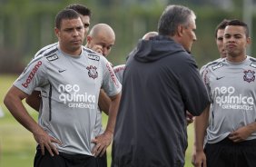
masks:
<svg viewBox="0 0 256 167"><path fill-rule="evenodd" d="M34 140L40 145L41 152L44 155L44 148L47 149L47 151L54 156L55 154L59 154L56 146L53 142L62 144L59 140L55 139L54 137L50 136L48 133L46 133L42 128L40 128L38 131L33 133Z"/></svg>

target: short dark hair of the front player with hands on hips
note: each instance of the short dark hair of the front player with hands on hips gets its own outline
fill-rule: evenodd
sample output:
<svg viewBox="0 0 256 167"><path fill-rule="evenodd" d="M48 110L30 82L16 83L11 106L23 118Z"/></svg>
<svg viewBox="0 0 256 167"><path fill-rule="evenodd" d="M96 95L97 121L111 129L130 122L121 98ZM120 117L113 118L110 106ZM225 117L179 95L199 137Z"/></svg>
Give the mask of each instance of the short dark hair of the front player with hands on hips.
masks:
<svg viewBox="0 0 256 167"><path fill-rule="evenodd" d="M79 14L75 12L73 9L64 9L61 10L55 17L55 27L60 29L61 23L64 19L76 19L80 18Z"/></svg>

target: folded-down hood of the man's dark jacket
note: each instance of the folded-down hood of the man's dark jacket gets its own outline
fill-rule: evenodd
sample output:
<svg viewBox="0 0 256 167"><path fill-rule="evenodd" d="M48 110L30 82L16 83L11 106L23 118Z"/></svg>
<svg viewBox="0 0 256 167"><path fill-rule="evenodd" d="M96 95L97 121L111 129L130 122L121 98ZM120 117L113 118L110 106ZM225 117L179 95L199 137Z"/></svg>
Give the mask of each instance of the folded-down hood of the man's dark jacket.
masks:
<svg viewBox="0 0 256 167"><path fill-rule="evenodd" d="M170 37L157 35L150 40L140 40L129 56L134 56L139 62L150 63L179 52L186 52L182 44L175 43Z"/></svg>

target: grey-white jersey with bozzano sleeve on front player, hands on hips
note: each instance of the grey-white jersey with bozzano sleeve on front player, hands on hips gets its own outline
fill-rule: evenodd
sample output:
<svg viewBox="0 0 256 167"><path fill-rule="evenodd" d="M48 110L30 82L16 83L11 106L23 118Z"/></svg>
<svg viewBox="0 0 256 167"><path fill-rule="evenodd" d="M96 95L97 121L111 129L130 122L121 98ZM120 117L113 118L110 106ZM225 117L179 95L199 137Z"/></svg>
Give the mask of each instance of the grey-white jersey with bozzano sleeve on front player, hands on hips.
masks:
<svg viewBox="0 0 256 167"><path fill-rule="evenodd" d="M43 100L38 123L63 144L59 152L92 155L100 88L113 96L121 92L111 64L83 46L79 57L59 46L47 49L28 64L15 86L30 94L40 87Z"/></svg>

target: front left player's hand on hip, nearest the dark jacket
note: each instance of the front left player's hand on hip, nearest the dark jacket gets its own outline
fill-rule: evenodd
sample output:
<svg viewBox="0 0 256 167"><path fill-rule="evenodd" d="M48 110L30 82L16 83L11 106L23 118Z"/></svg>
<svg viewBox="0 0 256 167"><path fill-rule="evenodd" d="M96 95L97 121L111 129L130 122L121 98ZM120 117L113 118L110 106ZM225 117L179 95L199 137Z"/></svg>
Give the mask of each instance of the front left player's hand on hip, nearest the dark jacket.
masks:
<svg viewBox="0 0 256 167"><path fill-rule="evenodd" d="M92 140L95 143L93 154L95 157L98 155L103 156L104 152L106 152L107 147L111 144L113 139L113 133L105 131L103 134L98 135L95 139Z"/></svg>

